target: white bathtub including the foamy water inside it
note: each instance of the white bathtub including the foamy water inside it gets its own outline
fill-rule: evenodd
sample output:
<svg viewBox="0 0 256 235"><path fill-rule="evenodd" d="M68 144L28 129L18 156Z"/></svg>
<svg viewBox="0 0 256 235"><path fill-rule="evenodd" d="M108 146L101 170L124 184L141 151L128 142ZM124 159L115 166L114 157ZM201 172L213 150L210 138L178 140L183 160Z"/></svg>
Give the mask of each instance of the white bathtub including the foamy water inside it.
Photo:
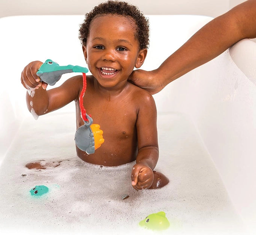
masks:
<svg viewBox="0 0 256 235"><path fill-rule="evenodd" d="M149 18L143 69L157 68L211 20ZM52 59L86 66L78 40L82 21L83 16L0 19L0 231L151 234L138 222L164 211L171 227L160 234L253 234L256 44L243 40L154 95L160 147L156 169L170 183L137 192L131 187L131 164L101 168L76 157L73 103L38 120L25 104L20 74L28 62ZM70 76L63 75L56 85ZM63 162L41 171L25 167L36 160ZM32 198L30 189L40 184L49 187L48 195ZM122 200L125 194L129 198Z"/></svg>

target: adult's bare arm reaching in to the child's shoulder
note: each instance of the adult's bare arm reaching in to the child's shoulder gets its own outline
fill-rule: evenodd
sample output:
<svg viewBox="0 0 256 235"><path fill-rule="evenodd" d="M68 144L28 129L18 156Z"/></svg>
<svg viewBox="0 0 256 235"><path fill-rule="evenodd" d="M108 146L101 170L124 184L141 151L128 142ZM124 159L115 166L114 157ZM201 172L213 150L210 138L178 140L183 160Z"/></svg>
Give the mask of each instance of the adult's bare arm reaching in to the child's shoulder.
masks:
<svg viewBox="0 0 256 235"><path fill-rule="evenodd" d="M213 19L153 71L135 70L129 79L151 94L210 61L236 42L256 38L256 0L248 0Z"/></svg>

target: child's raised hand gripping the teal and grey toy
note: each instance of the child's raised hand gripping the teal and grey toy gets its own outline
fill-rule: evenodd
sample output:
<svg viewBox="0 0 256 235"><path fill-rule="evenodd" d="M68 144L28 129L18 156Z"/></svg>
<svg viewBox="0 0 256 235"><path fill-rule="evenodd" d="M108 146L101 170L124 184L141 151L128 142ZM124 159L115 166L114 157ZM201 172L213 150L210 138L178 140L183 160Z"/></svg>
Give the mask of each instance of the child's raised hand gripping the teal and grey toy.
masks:
<svg viewBox="0 0 256 235"><path fill-rule="evenodd" d="M36 72L43 64L41 61L33 61L29 63L21 73L21 83L27 90L35 90L42 86L43 89L46 89L47 83L40 82L39 76L36 75Z"/></svg>

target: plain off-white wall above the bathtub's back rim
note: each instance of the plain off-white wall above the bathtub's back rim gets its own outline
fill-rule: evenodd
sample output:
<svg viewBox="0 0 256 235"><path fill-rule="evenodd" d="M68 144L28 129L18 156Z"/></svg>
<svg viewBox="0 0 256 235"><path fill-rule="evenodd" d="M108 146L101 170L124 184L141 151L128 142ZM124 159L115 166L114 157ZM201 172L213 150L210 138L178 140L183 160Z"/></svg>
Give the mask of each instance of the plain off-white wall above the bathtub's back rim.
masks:
<svg viewBox="0 0 256 235"><path fill-rule="evenodd" d="M105 0L0 0L0 17L14 15L84 15ZM127 0L145 15L219 16L244 0Z"/></svg>

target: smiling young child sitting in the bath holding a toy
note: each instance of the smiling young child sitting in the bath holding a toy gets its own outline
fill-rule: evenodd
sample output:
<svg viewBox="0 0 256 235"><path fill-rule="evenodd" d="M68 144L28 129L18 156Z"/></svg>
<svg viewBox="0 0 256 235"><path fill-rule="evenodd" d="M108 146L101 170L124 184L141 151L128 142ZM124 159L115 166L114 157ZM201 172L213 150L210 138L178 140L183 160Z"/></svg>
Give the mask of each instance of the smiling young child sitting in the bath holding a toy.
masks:
<svg viewBox="0 0 256 235"><path fill-rule="evenodd" d="M132 162L132 187L137 190L159 188L168 179L153 172L158 161L156 107L153 97L129 83L134 67L143 64L149 44L149 23L143 14L125 2L107 1L86 14L80 26L83 54L92 76L87 76L83 97L86 112L103 130L105 142L94 154L76 147L77 155L88 163L117 166ZM28 109L33 101L37 115L44 115L75 101L76 127L83 125L79 95L82 75L74 76L60 87L46 91L36 76L42 62L31 62L21 75L27 89ZM32 97L33 96L33 97ZM154 177L155 175L155 177Z"/></svg>

